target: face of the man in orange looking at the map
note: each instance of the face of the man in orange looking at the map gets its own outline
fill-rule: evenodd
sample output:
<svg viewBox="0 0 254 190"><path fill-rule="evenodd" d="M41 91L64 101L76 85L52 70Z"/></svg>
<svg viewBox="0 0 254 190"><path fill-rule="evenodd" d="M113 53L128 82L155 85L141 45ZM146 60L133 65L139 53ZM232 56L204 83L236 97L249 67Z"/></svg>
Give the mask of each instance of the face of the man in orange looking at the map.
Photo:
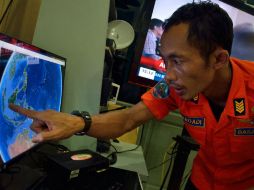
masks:
<svg viewBox="0 0 254 190"><path fill-rule="evenodd" d="M172 26L161 38L161 54L167 66L166 80L184 100L209 89L214 75L214 59L208 62L187 41L188 24Z"/></svg>

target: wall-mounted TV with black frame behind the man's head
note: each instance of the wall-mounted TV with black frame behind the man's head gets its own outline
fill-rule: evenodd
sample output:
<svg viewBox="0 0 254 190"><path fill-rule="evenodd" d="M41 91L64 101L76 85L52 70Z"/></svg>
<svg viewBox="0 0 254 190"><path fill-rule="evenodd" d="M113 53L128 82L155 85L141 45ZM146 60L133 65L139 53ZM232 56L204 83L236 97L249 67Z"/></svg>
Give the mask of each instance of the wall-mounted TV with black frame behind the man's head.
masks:
<svg viewBox="0 0 254 190"><path fill-rule="evenodd" d="M227 11L234 24L234 41L231 56L254 61L254 8L238 0L211 0L219 4ZM152 87L165 76L165 65L156 52L156 58L146 56L144 53L147 37L149 36L149 24L153 19L165 21L180 6L191 3L193 0L149 0L145 16L140 23L146 23L145 29L141 28L137 35L135 56L132 61L129 82L145 87ZM149 23L150 21L150 23ZM140 24L140 27L144 25ZM156 36L156 44L159 46L159 37ZM156 47L158 48L158 47Z"/></svg>

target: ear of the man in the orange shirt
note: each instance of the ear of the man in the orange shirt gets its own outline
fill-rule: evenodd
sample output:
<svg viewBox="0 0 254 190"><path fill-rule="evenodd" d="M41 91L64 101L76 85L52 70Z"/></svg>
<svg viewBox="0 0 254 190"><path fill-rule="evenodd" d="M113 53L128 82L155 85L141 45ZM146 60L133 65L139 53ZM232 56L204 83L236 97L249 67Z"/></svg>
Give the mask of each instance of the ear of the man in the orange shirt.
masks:
<svg viewBox="0 0 254 190"><path fill-rule="evenodd" d="M229 53L227 50L217 48L213 54L215 58L214 69L220 69L229 63Z"/></svg>

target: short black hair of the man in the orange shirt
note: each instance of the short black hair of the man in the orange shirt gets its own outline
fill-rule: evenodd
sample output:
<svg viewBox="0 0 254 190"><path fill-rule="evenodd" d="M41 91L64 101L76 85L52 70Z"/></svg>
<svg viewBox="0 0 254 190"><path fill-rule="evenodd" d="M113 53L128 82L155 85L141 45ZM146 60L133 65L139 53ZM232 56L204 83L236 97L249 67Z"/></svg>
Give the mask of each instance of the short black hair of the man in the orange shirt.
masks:
<svg viewBox="0 0 254 190"><path fill-rule="evenodd" d="M218 46L231 54L233 22L219 5L210 1L183 5L166 20L164 32L180 23L189 25L188 42L199 50L205 60Z"/></svg>

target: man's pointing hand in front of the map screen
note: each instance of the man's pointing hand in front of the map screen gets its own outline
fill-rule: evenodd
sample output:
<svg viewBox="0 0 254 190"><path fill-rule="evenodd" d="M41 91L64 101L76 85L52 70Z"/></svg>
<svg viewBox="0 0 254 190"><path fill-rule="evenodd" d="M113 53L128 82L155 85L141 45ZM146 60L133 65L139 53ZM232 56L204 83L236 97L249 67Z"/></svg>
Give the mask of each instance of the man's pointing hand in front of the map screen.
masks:
<svg viewBox="0 0 254 190"><path fill-rule="evenodd" d="M35 143L65 139L84 127L83 119L71 114L53 110L34 111L14 104L9 104L9 108L33 119L31 129L37 133L32 139Z"/></svg>

